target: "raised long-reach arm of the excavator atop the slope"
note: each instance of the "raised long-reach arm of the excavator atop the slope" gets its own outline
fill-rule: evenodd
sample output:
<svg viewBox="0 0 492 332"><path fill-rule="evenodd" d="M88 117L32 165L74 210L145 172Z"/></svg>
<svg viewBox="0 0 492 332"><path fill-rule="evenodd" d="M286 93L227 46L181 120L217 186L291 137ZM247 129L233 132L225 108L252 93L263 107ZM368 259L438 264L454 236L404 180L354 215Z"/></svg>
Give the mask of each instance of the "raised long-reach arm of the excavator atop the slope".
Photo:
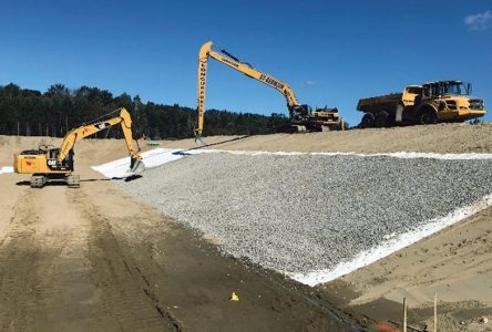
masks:
<svg viewBox="0 0 492 332"><path fill-rule="evenodd" d="M202 45L198 54L198 100L197 100L198 120L197 120L197 127L195 128L195 135L197 139L201 139L199 137L202 136L204 117L205 117L205 93L206 93L208 58L215 59L218 62L245 74L246 76L257 80L280 92L287 100L287 107L289 110L289 115L293 116L293 111L299 106L299 102L297 101L294 91L290 89L290 86L287 83L254 69L248 63L240 62L239 59L235 58L225 50L221 50L219 52L214 51L212 50L212 45L213 45L212 42L206 42L205 44Z"/></svg>

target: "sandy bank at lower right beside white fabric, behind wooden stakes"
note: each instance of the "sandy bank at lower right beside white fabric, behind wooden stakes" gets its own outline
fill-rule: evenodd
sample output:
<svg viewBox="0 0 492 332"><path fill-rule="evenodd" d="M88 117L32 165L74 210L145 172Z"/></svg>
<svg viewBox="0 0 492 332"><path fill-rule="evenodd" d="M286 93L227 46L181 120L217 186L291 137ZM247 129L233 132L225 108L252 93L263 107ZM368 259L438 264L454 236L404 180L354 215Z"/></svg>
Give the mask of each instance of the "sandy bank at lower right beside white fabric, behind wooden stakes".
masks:
<svg viewBox="0 0 492 332"><path fill-rule="evenodd" d="M420 328L437 293L442 331L491 331L479 321L492 317L492 208L318 290L376 322L400 322L406 298Z"/></svg>

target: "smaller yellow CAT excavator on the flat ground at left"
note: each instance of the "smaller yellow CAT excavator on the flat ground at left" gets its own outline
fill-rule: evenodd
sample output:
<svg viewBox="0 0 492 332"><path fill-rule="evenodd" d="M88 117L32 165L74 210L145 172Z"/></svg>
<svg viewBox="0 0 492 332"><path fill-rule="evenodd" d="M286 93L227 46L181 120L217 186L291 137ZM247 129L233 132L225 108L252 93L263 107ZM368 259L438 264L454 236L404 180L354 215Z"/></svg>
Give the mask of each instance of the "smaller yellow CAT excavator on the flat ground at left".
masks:
<svg viewBox="0 0 492 332"><path fill-rule="evenodd" d="M116 114L116 116L110 117ZM106 120L101 120L106 117ZM64 181L69 187L80 187L80 176L73 174L73 147L76 142L100 131L120 124L130 153L130 169L127 175L134 175L145 169L140 155L140 148L133 147L132 118L129 111L119 108L92 122L69 132L61 147L42 145L38 149L23 151L13 155L13 169L19 174L32 174L31 187L42 188L49 181ZM139 145L139 144L137 144Z"/></svg>

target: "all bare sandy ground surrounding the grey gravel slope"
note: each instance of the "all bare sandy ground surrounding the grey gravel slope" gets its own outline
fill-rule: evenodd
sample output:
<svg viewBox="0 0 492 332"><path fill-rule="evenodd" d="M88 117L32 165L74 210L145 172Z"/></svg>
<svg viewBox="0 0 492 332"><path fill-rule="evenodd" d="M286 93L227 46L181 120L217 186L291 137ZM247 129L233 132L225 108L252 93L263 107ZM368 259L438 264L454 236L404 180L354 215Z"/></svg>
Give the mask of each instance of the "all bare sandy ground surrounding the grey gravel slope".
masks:
<svg viewBox="0 0 492 332"><path fill-rule="evenodd" d="M39 141L0 136L0 166ZM223 149L492 153L492 125L205 141L207 148ZM184 139L160 147L196 145ZM491 208L369 267L306 289L221 257L213 245L89 168L124 155L123 142L81 142L75 158L84 181L76 190L32 190L28 176L0 175L0 330L338 331L342 328L334 315L348 314L372 328L400 322L403 297L410 322L422 328L432 314L434 292L442 331L492 330L490 322L479 323L492 318ZM228 301L232 291L239 293L238 303Z"/></svg>

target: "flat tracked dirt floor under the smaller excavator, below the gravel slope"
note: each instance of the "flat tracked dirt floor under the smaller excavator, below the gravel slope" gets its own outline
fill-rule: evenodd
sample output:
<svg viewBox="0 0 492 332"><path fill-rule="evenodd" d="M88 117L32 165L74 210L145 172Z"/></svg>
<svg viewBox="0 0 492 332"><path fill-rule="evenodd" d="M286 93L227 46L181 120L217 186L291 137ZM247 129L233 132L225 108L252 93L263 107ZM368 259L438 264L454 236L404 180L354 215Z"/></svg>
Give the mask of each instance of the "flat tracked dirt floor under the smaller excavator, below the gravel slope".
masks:
<svg viewBox="0 0 492 332"><path fill-rule="evenodd" d="M0 331L348 326L310 290L221 256L92 172L89 164L115 157L101 157L94 144L78 146L80 189L31 189L29 176L0 176Z"/></svg>

